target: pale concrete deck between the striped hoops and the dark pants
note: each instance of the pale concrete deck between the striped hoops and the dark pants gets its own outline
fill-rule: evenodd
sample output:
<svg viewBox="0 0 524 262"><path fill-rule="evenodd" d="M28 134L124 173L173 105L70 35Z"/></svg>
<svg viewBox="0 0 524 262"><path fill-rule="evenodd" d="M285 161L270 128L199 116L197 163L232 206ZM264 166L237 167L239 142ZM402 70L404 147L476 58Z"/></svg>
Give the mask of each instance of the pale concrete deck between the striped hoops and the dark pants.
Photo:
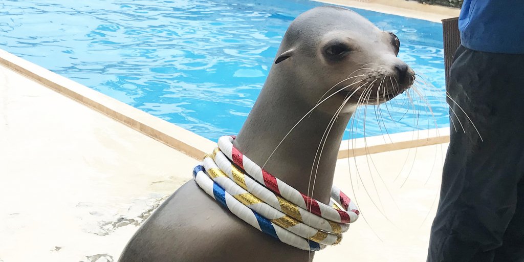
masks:
<svg viewBox="0 0 524 262"><path fill-rule="evenodd" d="M446 149L439 144L340 159L334 183L362 214L340 245L318 252L316 259L425 261Z"/></svg>

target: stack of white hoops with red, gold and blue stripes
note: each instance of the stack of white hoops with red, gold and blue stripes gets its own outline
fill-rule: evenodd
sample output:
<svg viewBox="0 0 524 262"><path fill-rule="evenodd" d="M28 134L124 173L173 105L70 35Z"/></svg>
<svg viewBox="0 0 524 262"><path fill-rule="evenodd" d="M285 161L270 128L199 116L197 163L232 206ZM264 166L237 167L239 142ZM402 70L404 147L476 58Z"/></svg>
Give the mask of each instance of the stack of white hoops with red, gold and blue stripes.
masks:
<svg viewBox="0 0 524 262"><path fill-rule="evenodd" d="M329 205L309 198L239 152L234 139L221 137L219 147L193 169L200 188L240 219L288 245L316 251L340 243L359 214L346 194L333 187Z"/></svg>

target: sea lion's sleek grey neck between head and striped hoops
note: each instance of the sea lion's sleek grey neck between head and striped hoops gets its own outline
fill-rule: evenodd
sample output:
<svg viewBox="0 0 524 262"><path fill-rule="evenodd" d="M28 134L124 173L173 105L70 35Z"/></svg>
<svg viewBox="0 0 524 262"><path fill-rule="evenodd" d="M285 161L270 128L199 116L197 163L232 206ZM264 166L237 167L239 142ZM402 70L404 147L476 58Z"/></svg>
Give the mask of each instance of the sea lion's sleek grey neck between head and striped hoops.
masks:
<svg viewBox="0 0 524 262"><path fill-rule="evenodd" d="M270 87L263 89L234 141L234 145L259 166L266 163L282 138L312 108L312 105L304 105L296 96L275 92L281 90ZM323 149L321 145L322 156L317 170L316 165L313 167L313 161L315 156L316 161L319 159L321 138L341 104L327 102L330 105L326 103L326 106L319 106L319 109L302 119L264 166L266 171L304 194L308 194L310 184L309 195L316 173L313 198L323 203L329 202L342 136L352 115L352 112L346 112L337 117Z"/></svg>

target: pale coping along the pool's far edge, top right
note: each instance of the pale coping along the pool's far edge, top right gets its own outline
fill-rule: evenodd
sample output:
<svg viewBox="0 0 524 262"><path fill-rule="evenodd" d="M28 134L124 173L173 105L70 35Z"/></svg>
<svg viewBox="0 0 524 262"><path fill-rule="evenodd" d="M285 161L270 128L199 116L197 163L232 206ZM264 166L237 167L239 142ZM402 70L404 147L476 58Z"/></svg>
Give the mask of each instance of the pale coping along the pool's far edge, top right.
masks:
<svg viewBox="0 0 524 262"><path fill-rule="evenodd" d="M442 23L443 19L458 17L460 8L422 4L412 0L313 0L390 15L405 16Z"/></svg>

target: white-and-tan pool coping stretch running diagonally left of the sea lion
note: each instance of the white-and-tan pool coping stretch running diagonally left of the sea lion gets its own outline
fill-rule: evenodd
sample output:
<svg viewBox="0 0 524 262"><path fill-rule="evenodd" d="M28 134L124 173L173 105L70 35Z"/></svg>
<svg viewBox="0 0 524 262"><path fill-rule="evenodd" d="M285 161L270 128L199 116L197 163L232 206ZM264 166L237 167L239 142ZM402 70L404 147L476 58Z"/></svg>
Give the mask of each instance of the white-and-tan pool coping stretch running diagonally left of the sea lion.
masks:
<svg viewBox="0 0 524 262"><path fill-rule="evenodd" d="M184 154L202 159L215 143L0 49L0 64Z"/></svg>

